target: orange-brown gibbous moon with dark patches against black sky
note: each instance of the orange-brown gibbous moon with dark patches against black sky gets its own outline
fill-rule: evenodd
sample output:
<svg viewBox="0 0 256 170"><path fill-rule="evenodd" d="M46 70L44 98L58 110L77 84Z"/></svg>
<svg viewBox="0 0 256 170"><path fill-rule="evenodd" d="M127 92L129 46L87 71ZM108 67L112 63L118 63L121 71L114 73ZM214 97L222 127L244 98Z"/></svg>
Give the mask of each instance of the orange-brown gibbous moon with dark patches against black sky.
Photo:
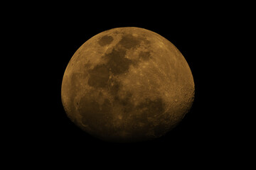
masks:
<svg viewBox="0 0 256 170"><path fill-rule="evenodd" d="M107 142L154 140L193 105L193 75L181 52L144 28L113 28L87 40L63 75L61 100L75 125Z"/></svg>

